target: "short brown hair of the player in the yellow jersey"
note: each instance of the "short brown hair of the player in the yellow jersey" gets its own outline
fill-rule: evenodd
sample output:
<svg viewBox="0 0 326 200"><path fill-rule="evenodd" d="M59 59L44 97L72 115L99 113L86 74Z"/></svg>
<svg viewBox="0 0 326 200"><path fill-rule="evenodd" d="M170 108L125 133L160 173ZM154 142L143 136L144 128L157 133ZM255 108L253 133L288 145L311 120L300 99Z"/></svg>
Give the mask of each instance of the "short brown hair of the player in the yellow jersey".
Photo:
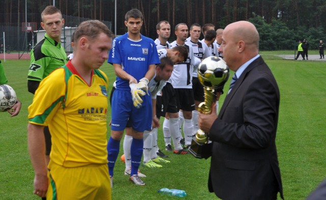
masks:
<svg viewBox="0 0 326 200"><path fill-rule="evenodd" d="M83 35L89 38L90 40L94 40L98 37L100 33L104 33L109 38L115 38L115 35L107 28L107 26L99 21L99 20L88 20L83 21L79 24L75 32L73 33L74 41L78 41L80 37Z"/></svg>

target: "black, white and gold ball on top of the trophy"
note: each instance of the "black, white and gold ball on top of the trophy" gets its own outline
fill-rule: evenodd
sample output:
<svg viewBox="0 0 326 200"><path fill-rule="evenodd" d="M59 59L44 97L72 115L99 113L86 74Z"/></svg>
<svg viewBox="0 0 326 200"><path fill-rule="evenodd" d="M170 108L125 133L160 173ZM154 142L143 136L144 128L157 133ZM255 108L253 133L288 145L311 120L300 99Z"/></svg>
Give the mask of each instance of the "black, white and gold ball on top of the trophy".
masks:
<svg viewBox="0 0 326 200"><path fill-rule="evenodd" d="M204 87L219 88L229 79L229 67L222 58L210 56L199 64L198 79Z"/></svg>

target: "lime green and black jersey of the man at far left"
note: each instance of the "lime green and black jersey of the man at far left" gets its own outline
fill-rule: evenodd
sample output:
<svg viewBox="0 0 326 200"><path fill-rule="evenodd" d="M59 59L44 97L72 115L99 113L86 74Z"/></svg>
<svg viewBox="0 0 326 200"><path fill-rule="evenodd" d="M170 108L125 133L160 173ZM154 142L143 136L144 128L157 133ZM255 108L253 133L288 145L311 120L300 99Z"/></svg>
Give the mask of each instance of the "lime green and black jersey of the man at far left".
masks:
<svg viewBox="0 0 326 200"><path fill-rule="evenodd" d="M61 43L45 34L31 51L31 65L27 79L42 81L49 73L67 62L68 57Z"/></svg>

